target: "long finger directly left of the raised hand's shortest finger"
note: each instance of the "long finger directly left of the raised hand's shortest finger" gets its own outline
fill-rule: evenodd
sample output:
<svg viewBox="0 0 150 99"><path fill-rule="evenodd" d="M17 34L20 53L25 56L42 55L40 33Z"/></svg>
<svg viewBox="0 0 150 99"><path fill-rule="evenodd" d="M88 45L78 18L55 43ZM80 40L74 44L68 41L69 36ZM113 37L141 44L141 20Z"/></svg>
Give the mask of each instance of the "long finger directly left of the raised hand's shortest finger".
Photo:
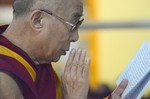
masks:
<svg viewBox="0 0 150 99"><path fill-rule="evenodd" d="M77 75L78 76L82 75L83 67L85 65L85 56L86 56L86 51L82 50L80 60L79 60L79 65L78 65L78 68L77 68Z"/></svg>

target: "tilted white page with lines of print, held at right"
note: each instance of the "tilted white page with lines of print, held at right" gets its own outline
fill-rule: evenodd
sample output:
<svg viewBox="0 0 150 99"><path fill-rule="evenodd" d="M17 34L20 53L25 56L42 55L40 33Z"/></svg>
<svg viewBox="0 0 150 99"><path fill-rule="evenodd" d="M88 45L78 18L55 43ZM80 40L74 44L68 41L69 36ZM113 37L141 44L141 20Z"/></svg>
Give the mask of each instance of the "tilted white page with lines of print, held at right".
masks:
<svg viewBox="0 0 150 99"><path fill-rule="evenodd" d="M135 54L131 62L128 64L124 72L121 74L119 79L117 80L117 85L123 80L128 79L128 86L122 94L122 98L125 99L127 95L129 95L132 89L135 89L143 78L150 72L150 45L148 41L145 41L138 52ZM143 80L144 81L144 80ZM147 86L146 83L145 86ZM145 87L143 87L145 89ZM140 98L143 95L144 91L141 90L139 93ZM134 93L133 93L134 94ZM131 98L127 98L131 99ZM137 98L132 98L137 99Z"/></svg>

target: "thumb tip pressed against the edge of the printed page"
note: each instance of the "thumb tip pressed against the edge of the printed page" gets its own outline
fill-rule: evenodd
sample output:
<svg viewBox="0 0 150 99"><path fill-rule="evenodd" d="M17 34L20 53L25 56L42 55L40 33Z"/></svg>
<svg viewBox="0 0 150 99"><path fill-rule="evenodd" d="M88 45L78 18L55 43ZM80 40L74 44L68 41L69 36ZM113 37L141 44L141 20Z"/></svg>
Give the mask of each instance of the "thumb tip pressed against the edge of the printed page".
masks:
<svg viewBox="0 0 150 99"><path fill-rule="evenodd" d="M114 90L113 93L121 96L121 94L123 93L127 85L128 85L128 80L127 79L122 80L119 86Z"/></svg>

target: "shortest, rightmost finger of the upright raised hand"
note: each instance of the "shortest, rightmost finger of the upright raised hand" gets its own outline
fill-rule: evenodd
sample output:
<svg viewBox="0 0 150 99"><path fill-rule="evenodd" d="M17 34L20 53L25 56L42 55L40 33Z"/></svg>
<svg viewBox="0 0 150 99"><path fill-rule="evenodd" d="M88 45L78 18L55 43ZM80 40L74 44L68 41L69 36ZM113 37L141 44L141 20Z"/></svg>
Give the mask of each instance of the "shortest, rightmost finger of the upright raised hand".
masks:
<svg viewBox="0 0 150 99"><path fill-rule="evenodd" d="M88 58L86 60L85 66L83 67L83 78L85 79L88 79L88 76L89 76L90 63L91 63L91 60L90 58Z"/></svg>

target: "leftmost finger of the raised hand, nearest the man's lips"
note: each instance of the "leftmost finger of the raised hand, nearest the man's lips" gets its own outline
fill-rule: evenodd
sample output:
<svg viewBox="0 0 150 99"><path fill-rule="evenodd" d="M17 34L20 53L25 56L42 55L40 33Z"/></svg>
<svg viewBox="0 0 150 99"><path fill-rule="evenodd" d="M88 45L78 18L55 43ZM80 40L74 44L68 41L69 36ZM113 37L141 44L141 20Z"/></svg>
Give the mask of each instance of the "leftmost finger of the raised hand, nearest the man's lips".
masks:
<svg viewBox="0 0 150 99"><path fill-rule="evenodd" d="M74 59L75 53L76 53L76 50L72 49L70 54L69 54L69 58L68 58L68 60L66 62L64 73L67 73L68 71L71 70L71 64L72 64L72 61Z"/></svg>

